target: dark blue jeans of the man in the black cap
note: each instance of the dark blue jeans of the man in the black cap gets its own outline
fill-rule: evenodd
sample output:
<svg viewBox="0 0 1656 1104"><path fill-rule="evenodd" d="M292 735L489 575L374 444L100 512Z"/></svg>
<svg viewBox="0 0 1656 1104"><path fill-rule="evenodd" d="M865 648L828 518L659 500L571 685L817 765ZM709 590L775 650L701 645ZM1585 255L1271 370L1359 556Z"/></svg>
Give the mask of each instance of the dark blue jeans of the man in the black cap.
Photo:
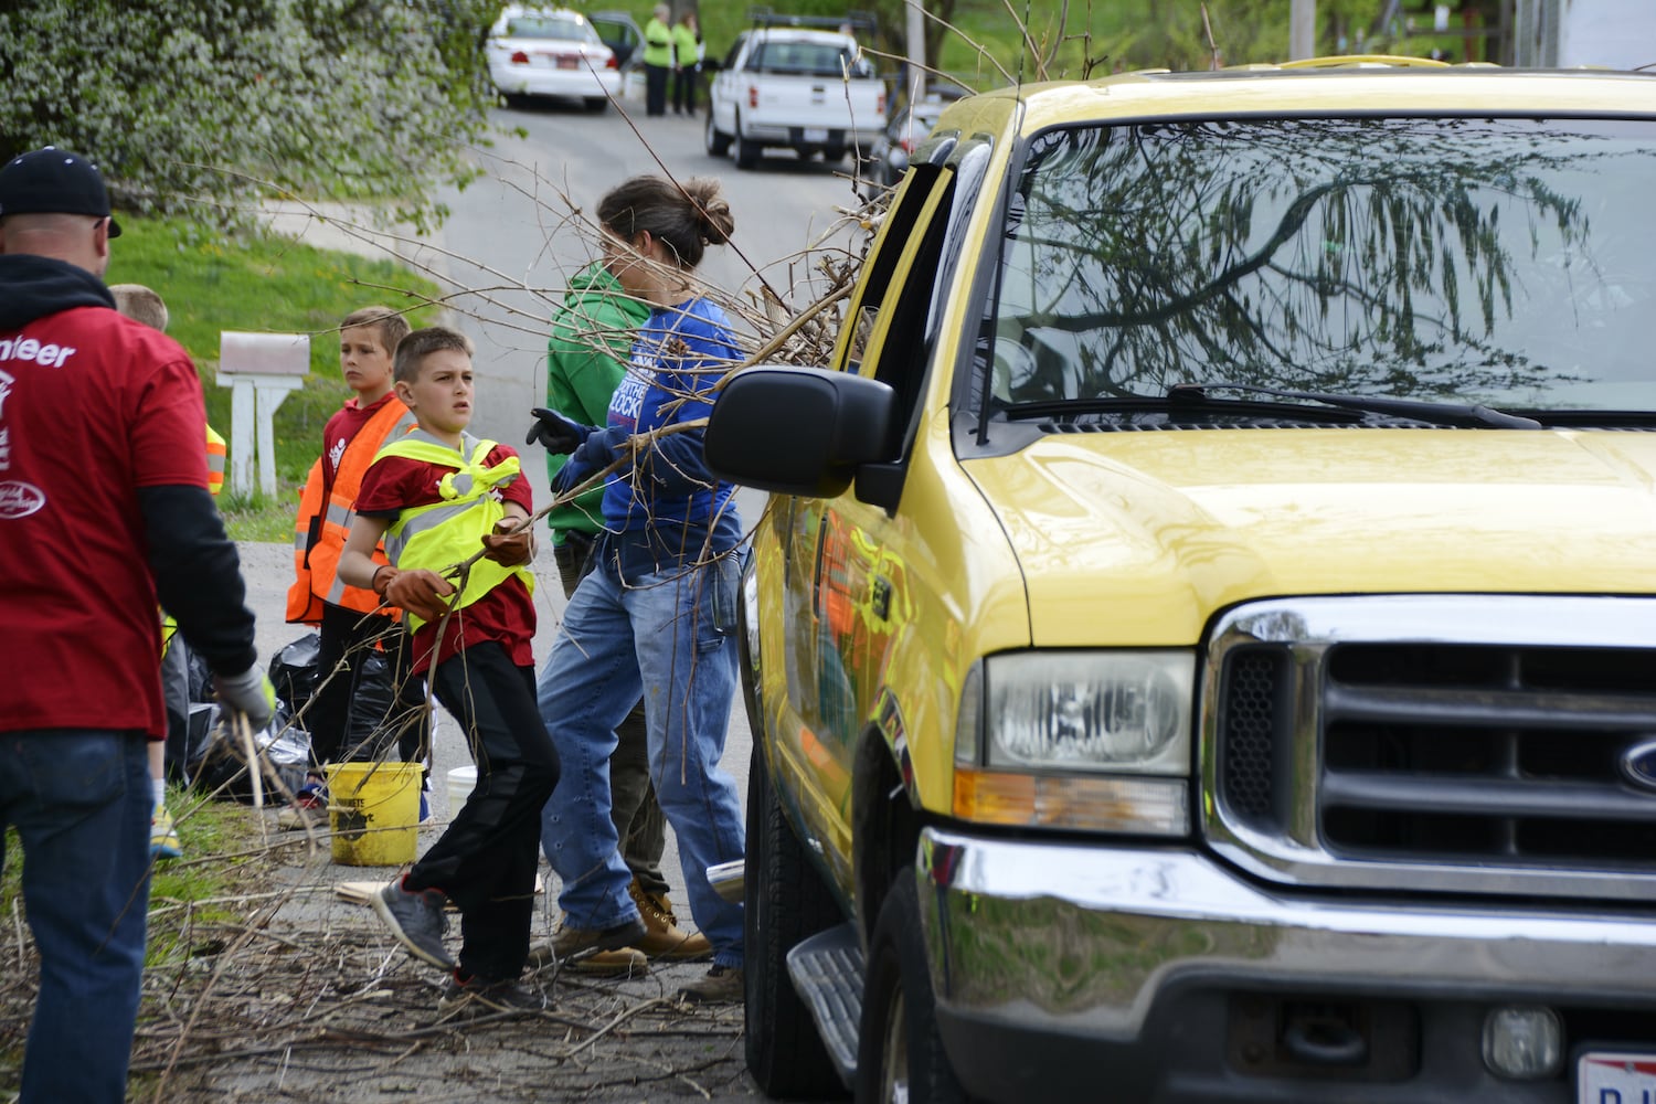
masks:
<svg viewBox="0 0 1656 1104"><path fill-rule="evenodd" d="M142 733L0 733L0 824L23 842L23 904L40 950L20 1104L126 1099L154 804Z"/></svg>

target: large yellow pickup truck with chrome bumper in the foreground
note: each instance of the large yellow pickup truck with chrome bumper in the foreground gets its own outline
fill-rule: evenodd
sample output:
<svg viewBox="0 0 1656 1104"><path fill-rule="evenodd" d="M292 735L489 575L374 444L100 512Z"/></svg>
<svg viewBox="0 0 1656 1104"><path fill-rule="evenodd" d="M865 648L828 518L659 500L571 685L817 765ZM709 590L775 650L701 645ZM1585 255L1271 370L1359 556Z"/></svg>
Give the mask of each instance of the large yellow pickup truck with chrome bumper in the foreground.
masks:
<svg viewBox="0 0 1656 1104"><path fill-rule="evenodd" d="M707 429L777 1097L1656 1099L1656 78L1023 86Z"/></svg>

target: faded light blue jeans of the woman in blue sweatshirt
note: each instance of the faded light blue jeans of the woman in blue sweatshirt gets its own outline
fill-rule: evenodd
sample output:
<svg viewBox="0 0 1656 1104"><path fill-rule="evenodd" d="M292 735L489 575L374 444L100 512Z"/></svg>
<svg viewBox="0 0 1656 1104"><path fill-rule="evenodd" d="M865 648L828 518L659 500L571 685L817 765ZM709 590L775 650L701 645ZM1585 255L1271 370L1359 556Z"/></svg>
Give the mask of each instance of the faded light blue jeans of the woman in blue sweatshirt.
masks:
<svg viewBox="0 0 1656 1104"><path fill-rule="evenodd" d="M719 768L735 695L740 564L667 568L623 584L599 561L570 598L540 672L540 713L563 775L542 814L542 847L563 879L558 904L578 929L638 917L609 816L616 725L644 700L649 773L679 839L691 917L714 962L742 965L742 905L707 882L707 867L742 857L742 799Z"/></svg>

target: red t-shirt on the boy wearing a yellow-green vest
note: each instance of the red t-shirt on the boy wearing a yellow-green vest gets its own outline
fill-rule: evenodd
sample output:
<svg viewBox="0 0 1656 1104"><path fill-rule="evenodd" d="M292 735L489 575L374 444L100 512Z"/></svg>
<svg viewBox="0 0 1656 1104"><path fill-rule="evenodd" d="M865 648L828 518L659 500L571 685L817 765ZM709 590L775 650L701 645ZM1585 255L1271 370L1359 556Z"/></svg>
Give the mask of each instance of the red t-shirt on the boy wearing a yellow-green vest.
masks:
<svg viewBox="0 0 1656 1104"><path fill-rule="evenodd" d="M457 454L459 455L459 454ZM495 445L489 454L489 463L495 465L507 457L515 457L517 450L508 445ZM404 510L429 506L442 502L437 485L442 477L454 468L407 457L379 457L363 475L363 488L356 492L356 511L364 516L396 520ZM523 510L533 511L533 492L522 475L497 488L503 502L515 502ZM447 564L442 564L447 566ZM440 568L436 568L440 574ZM535 599L528 588L517 576L508 576L470 606L457 609L442 636L442 647L436 649L436 621L427 621L414 634L414 674L436 667L464 647L472 647L484 641L495 641L507 649L512 662L518 667L533 667L532 650L535 639Z"/></svg>

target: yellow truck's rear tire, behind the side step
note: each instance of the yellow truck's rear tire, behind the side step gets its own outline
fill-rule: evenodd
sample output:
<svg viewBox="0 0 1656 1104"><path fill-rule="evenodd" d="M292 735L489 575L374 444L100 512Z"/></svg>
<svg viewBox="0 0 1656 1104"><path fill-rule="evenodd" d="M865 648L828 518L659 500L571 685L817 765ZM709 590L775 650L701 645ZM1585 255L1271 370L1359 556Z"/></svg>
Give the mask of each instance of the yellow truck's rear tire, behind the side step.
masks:
<svg viewBox="0 0 1656 1104"><path fill-rule="evenodd" d="M747 1069L770 1097L841 1096L840 1073L788 978L788 952L800 940L843 922L845 915L782 814L757 746L747 775L744 877Z"/></svg>

